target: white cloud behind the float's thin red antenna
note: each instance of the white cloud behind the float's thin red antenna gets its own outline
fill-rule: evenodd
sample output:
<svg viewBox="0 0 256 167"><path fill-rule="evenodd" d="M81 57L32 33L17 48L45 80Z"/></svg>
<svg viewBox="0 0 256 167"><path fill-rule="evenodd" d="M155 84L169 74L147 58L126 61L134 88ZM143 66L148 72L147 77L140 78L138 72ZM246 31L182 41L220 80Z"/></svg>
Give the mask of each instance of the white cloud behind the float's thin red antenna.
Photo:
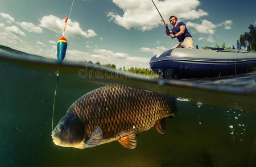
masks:
<svg viewBox="0 0 256 167"><path fill-rule="evenodd" d="M40 27L47 28L48 30L54 31L57 34L63 33L64 19L60 19L54 15L43 16L40 19ZM67 36L73 37L93 37L97 36L96 32L93 30L83 31L78 22L72 22L71 19L68 20L66 28Z"/></svg>

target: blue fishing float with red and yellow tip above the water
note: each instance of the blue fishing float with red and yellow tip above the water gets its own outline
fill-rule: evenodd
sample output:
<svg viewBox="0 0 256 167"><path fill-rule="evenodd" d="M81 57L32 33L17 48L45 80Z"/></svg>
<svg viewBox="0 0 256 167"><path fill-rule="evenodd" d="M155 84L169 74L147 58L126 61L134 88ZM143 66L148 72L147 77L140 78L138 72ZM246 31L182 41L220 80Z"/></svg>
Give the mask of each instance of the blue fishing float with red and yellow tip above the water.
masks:
<svg viewBox="0 0 256 167"><path fill-rule="evenodd" d="M58 61L63 61L66 55L68 41L65 39L65 30L68 22L68 17L65 18L65 26L63 36L57 41L57 59Z"/></svg>

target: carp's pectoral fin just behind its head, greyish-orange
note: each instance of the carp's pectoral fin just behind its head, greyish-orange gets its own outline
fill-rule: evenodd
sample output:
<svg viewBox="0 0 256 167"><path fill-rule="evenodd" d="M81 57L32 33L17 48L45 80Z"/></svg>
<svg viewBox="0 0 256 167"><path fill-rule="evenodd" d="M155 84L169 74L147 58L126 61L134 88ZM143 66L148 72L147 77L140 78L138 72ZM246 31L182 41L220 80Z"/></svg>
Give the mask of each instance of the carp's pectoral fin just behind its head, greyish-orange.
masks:
<svg viewBox="0 0 256 167"><path fill-rule="evenodd" d="M90 135L90 139L84 142L84 146L86 148L88 147L94 147L98 144L100 144L102 141L102 131L101 128L96 126Z"/></svg>

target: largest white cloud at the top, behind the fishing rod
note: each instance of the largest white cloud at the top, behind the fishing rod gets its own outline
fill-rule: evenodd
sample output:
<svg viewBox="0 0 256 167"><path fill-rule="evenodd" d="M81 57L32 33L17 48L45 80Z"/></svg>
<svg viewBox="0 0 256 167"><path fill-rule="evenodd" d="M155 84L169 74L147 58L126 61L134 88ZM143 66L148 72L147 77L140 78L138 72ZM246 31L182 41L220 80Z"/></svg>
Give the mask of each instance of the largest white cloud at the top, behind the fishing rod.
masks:
<svg viewBox="0 0 256 167"><path fill-rule="evenodd" d="M171 14L175 14L178 19L197 19L208 15L203 10L197 10L200 5L199 0L155 0L154 2L166 22ZM107 16L114 23L125 27L127 30L133 27L147 31L162 24L154 5L148 0L113 0L113 3L123 10L123 15L109 11Z"/></svg>

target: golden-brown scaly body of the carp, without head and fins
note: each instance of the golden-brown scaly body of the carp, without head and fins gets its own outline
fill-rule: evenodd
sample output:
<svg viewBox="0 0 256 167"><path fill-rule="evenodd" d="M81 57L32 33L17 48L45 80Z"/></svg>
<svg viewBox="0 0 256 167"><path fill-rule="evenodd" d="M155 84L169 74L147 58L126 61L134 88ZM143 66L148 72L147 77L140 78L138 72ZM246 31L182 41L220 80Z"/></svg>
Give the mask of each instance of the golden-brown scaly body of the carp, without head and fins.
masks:
<svg viewBox="0 0 256 167"><path fill-rule="evenodd" d="M79 98L68 112L77 114L82 122L88 123L85 126L86 136L91 135L94 127L100 127L103 144L148 130L160 119L174 115L175 102L175 98L168 95L111 85Z"/></svg>

